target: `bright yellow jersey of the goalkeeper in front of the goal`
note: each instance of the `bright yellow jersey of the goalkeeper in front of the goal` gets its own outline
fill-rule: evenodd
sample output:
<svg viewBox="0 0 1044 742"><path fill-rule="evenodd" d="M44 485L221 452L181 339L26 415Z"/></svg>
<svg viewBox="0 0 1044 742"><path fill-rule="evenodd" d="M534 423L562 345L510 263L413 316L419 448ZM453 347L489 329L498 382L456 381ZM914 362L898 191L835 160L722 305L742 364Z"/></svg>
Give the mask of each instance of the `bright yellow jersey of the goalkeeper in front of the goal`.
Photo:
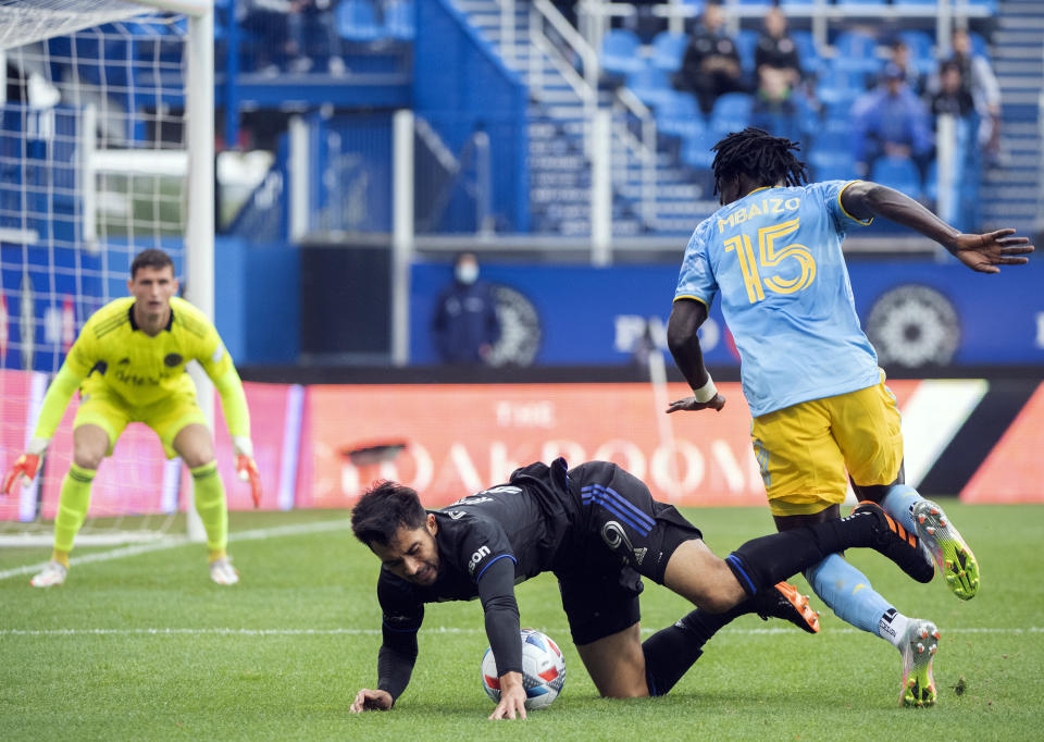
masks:
<svg viewBox="0 0 1044 742"><path fill-rule="evenodd" d="M133 306L133 296L107 304L87 320L69 351L65 364L84 379L83 393L111 391L141 407L174 393L195 394L185 372L190 360L215 382L232 368L214 325L192 305L171 297L166 330L154 337L138 329Z"/></svg>

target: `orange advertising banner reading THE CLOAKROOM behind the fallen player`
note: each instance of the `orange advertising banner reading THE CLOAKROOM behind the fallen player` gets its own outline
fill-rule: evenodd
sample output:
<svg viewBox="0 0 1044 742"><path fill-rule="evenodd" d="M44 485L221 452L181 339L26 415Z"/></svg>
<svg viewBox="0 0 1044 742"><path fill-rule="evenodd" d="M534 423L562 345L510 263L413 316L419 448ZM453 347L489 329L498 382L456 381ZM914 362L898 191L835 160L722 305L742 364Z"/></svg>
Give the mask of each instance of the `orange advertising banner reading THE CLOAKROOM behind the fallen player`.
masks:
<svg viewBox="0 0 1044 742"><path fill-rule="evenodd" d="M350 506L389 479L438 507L556 456L614 461L664 502L763 506L746 400L737 383L719 388L721 412L666 415L669 399L691 394L685 384L659 396L639 383L312 386L302 456L311 486L298 506ZM395 443L405 447L383 461L357 466L349 454Z"/></svg>

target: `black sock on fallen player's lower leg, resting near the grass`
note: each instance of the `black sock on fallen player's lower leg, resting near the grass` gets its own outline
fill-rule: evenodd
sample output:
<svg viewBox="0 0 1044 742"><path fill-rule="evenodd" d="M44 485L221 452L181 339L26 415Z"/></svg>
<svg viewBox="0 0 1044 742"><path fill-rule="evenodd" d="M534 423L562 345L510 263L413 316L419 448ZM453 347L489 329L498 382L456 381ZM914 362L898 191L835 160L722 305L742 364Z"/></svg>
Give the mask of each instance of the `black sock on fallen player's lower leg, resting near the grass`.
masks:
<svg viewBox="0 0 1044 742"><path fill-rule="evenodd" d="M645 682L649 695L664 695L674 688L704 653L704 644L729 621L753 610L744 601L723 614L694 610L678 623L660 629L642 642L645 655Z"/></svg>

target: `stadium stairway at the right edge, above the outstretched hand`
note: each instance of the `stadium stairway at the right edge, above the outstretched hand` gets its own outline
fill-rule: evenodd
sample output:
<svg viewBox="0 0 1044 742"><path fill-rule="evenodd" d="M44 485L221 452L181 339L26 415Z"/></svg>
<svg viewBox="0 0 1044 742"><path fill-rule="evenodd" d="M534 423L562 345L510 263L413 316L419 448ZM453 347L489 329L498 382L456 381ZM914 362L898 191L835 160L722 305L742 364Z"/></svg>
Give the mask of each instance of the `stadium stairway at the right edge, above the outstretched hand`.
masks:
<svg viewBox="0 0 1044 742"><path fill-rule="evenodd" d="M1000 84L1000 152L982 183L987 228L1044 228L1041 202L1041 81L1044 79L1044 1L1002 0L990 49Z"/></svg>

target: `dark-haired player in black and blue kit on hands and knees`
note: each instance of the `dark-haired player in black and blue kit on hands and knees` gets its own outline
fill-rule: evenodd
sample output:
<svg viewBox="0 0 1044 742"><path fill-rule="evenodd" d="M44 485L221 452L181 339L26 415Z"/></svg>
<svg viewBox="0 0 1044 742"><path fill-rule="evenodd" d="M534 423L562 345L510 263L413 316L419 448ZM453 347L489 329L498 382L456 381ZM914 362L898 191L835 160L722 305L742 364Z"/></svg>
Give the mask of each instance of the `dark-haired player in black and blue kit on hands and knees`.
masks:
<svg viewBox="0 0 1044 742"><path fill-rule="evenodd" d="M908 573L924 566L916 539L900 535L873 504L846 519L748 541L720 559L673 506L606 461L571 470L563 459L533 463L507 484L431 511L413 490L384 482L360 498L351 527L382 561L377 687L358 692L356 713L391 708L406 690L425 603L477 597L501 688L489 718L525 718L514 584L540 572L558 578L573 642L598 692L635 697L667 693L737 616L785 618L816 632L807 598L782 580L829 554L865 546ZM642 577L698 607L645 642Z"/></svg>

